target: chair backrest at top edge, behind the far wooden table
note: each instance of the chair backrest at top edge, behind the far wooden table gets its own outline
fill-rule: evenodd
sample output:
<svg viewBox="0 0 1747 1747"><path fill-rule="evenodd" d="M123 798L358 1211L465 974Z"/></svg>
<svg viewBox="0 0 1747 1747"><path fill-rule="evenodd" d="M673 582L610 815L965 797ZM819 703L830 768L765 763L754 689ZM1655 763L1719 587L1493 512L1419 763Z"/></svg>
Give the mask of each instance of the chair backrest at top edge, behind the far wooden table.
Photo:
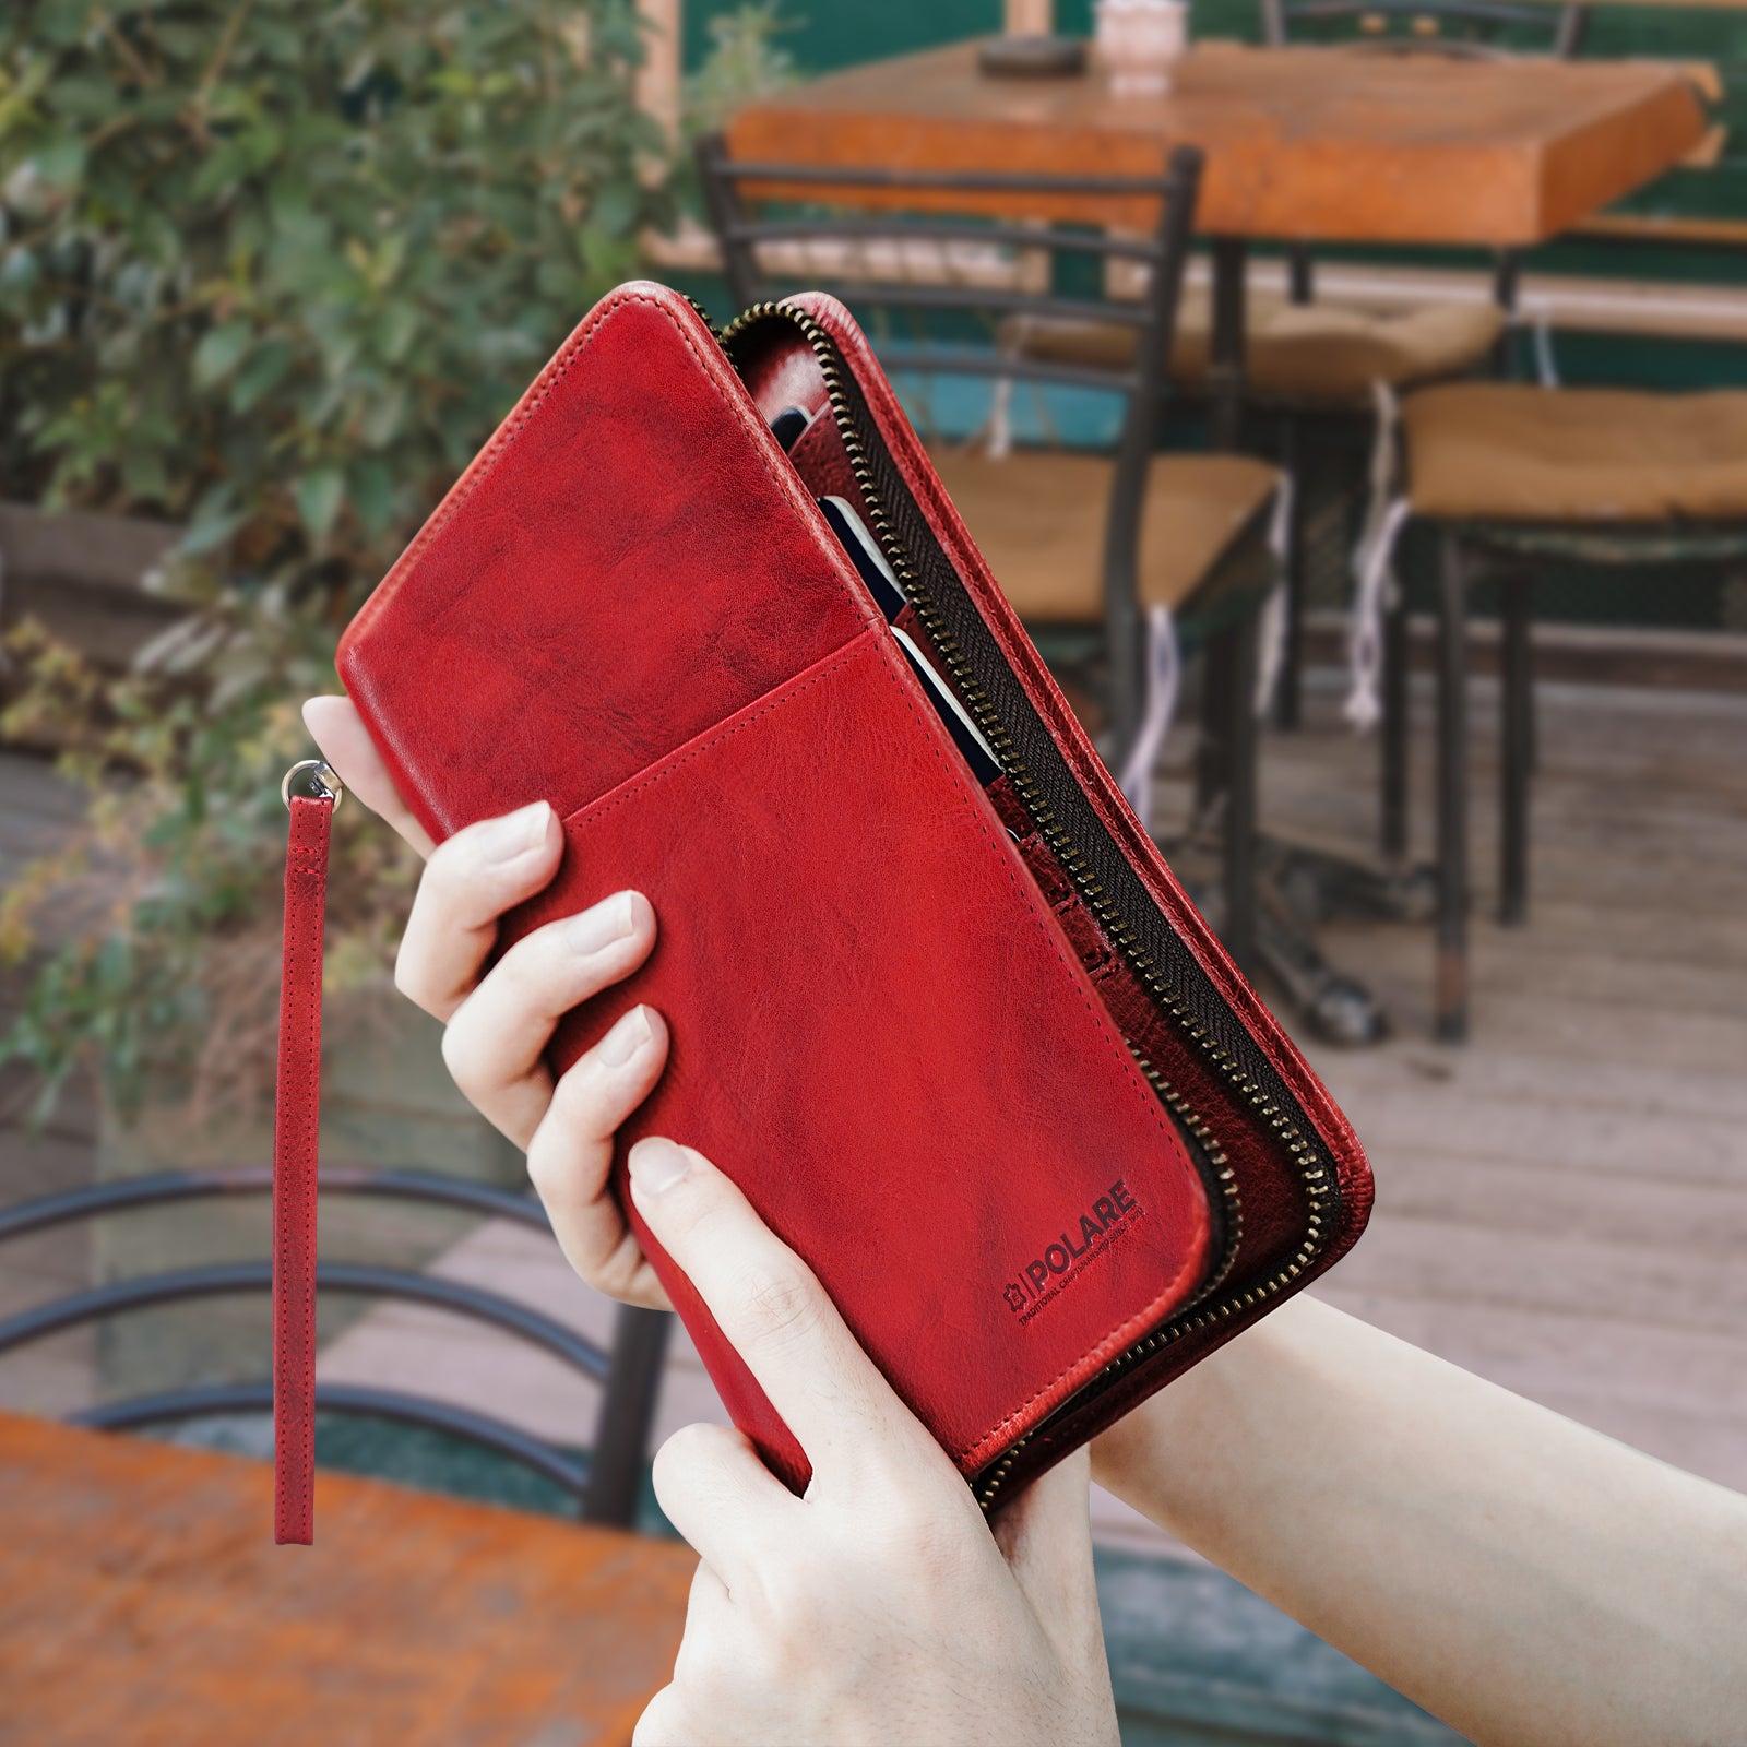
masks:
<svg viewBox="0 0 1747 1747"><path fill-rule="evenodd" d="M1270 44L1350 40L1385 52L1520 54L1578 52L1588 5L1567 0L1261 0ZM1511 31L1508 42L1501 42Z"/></svg>

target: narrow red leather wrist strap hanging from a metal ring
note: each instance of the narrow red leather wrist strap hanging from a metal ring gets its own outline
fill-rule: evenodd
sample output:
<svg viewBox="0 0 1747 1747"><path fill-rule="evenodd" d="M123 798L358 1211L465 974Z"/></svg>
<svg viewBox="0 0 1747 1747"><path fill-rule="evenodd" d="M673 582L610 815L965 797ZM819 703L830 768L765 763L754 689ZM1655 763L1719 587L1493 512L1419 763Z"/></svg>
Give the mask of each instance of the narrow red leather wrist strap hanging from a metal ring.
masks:
<svg viewBox="0 0 1747 1747"><path fill-rule="evenodd" d="M314 1541L316 1130L321 928L334 802L295 795L285 851L280 1094L273 1120L273 1539Z"/></svg>

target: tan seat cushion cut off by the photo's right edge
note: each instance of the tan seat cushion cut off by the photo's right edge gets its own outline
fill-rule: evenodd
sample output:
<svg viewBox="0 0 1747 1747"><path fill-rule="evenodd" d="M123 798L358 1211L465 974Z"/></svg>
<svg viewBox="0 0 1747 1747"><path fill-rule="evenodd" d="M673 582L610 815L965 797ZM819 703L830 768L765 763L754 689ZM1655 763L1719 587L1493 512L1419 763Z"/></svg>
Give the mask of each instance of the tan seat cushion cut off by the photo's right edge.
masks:
<svg viewBox="0 0 1747 1747"><path fill-rule="evenodd" d="M1403 407L1413 514L1454 522L1747 517L1747 390L1448 383Z"/></svg>

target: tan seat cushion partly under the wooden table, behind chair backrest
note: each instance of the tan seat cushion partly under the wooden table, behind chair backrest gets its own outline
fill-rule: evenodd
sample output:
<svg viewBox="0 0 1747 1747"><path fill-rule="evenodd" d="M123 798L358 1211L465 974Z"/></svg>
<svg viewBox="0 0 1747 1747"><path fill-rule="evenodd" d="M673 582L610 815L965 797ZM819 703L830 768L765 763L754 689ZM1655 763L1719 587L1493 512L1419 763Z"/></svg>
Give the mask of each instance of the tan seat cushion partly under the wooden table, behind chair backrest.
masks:
<svg viewBox="0 0 1747 1747"><path fill-rule="evenodd" d="M1371 384L1405 390L1462 376L1487 360L1504 332L1497 304L1452 302L1370 311L1253 297L1244 379L1265 400L1333 402L1364 409ZM1129 330L1109 321L1019 320L1003 342L1057 363L1122 367L1134 353ZM1170 346L1170 379L1205 384L1212 360L1212 302L1184 293Z"/></svg>

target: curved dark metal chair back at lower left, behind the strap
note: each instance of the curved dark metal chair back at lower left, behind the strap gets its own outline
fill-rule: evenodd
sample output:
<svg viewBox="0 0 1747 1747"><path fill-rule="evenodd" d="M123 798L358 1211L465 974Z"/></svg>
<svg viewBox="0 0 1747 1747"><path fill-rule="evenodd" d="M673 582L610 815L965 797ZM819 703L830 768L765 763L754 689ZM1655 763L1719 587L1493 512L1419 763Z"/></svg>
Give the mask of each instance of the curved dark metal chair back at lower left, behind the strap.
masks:
<svg viewBox="0 0 1747 1747"><path fill-rule="evenodd" d="M0 1209L0 1242L138 1207L267 1195L271 1190L273 1172L267 1169L175 1170L122 1177ZM531 1230L550 1230L545 1211L533 1197L430 1172L323 1165L321 1191L454 1207L463 1212L510 1219ZM33 1340L44 1340L61 1329L124 1315L131 1310L238 1293L267 1293L271 1286L271 1265L266 1261L175 1268L110 1281L0 1321L0 1354ZM583 1522L631 1527L643 1483L655 1396L660 1387L662 1354L673 1321L667 1312L620 1305L613 1345L604 1350L575 1329L524 1303L430 1274L360 1263L321 1263L316 1270L316 1288L318 1291L400 1298L487 1322L542 1347L582 1371L583 1377L604 1385L599 1434L587 1466L503 1420L393 1389L320 1384L316 1387L318 1413L386 1419L493 1450L543 1474L568 1492ZM72 1422L105 1431L124 1431L208 1419L218 1413L267 1412L271 1406L273 1385L269 1382L215 1384L103 1403L72 1415Z"/></svg>

